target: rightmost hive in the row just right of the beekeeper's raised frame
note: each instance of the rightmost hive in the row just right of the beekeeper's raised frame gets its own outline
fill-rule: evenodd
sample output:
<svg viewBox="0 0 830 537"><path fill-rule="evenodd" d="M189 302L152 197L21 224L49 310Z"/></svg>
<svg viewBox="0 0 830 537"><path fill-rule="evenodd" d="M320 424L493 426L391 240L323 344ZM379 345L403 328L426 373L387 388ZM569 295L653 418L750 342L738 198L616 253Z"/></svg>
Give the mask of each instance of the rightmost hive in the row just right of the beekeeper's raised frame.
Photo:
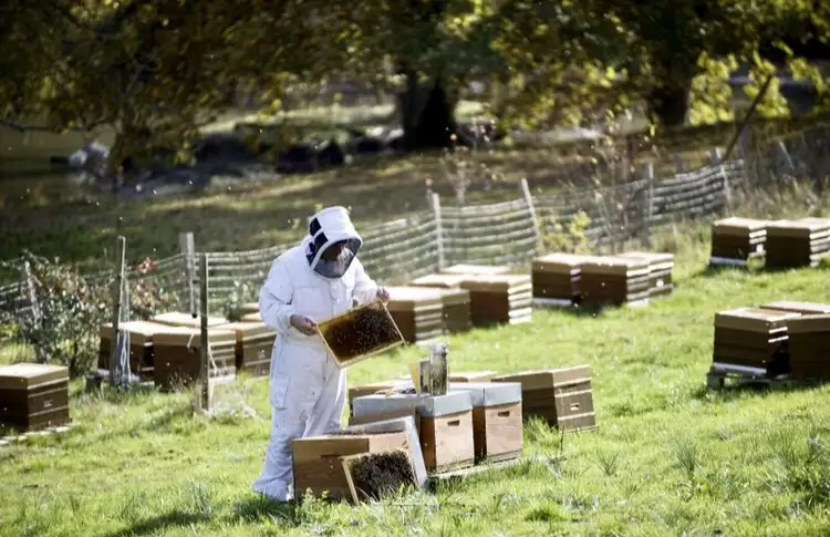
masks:
<svg viewBox="0 0 830 537"><path fill-rule="evenodd" d="M469 291L474 326L518 324L532 318L530 275L469 276L461 281L461 288Z"/></svg>

